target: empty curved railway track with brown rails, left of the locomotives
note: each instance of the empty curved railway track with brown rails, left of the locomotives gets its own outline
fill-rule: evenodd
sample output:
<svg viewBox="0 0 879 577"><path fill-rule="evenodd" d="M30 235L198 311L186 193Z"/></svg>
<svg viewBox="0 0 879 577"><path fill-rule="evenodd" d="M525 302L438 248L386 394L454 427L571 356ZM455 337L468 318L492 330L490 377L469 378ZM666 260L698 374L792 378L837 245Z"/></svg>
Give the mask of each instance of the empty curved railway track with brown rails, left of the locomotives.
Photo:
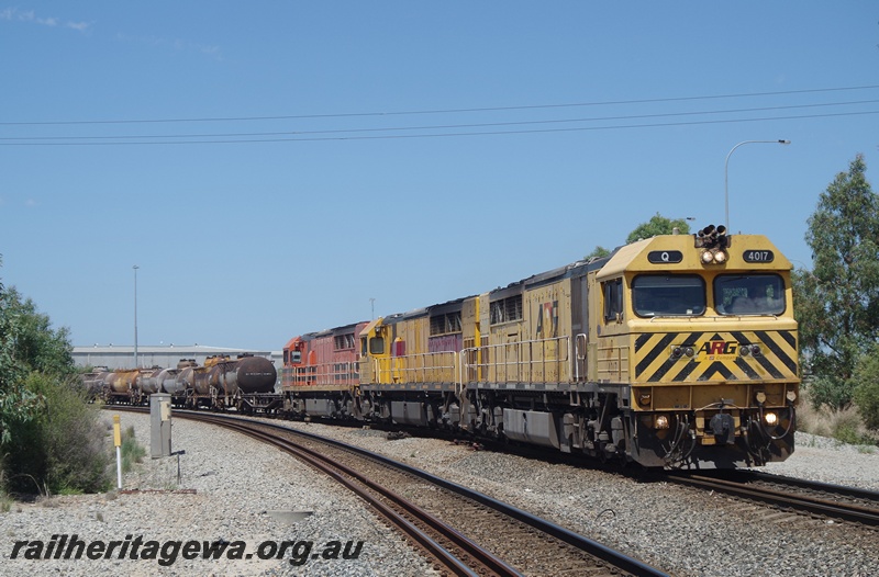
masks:
<svg viewBox="0 0 879 577"><path fill-rule="evenodd" d="M360 496L446 575L665 575L546 520L382 455L241 417L185 411L175 411L175 417L235 430L307 462Z"/></svg>

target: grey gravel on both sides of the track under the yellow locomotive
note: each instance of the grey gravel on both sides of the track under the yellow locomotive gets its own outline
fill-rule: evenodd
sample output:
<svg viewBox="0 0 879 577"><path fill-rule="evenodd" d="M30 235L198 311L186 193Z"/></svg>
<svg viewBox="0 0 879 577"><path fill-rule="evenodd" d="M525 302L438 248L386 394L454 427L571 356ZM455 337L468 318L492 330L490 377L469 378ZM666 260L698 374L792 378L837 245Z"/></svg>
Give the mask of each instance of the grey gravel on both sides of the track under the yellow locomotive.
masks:
<svg viewBox="0 0 879 577"><path fill-rule="evenodd" d="M879 532L728 497L374 430L287 423L476 487L679 577L872 576ZM797 433L766 471L879 490L879 451ZM539 553L535 553L539 554Z"/></svg>

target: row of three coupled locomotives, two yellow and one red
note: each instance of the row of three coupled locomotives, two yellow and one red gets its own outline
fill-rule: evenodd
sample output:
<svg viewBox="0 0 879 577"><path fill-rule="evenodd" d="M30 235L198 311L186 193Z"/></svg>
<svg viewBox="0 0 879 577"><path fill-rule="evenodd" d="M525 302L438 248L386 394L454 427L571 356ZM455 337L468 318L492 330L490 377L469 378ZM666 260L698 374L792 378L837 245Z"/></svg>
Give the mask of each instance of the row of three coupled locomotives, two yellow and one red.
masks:
<svg viewBox="0 0 879 577"><path fill-rule="evenodd" d="M765 236L710 226L303 335L285 347L283 410L647 467L782 461L800 384L791 268Z"/></svg>

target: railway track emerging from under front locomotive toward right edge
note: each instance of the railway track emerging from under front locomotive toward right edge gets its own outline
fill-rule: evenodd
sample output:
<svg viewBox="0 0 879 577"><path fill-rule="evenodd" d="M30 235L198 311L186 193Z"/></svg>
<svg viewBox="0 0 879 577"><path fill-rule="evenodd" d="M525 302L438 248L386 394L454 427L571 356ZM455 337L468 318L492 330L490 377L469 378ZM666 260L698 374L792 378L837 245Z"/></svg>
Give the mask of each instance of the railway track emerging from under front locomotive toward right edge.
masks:
<svg viewBox="0 0 879 577"><path fill-rule="evenodd" d="M675 484L714 490L801 514L879 529L877 491L750 471L704 475L681 473L664 478Z"/></svg>

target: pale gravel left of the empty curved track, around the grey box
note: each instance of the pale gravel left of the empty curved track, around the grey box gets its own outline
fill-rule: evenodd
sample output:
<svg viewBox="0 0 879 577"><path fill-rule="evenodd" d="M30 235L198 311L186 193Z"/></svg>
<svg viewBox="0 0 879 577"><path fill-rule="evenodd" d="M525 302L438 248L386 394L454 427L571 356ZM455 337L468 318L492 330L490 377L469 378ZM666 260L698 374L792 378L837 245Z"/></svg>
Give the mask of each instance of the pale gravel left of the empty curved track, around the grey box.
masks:
<svg viewBox="0 0 879 577"><path fill-rule="evenodd" d="M123 428L134 426L138 441L148 452L148 417L123 412L121 420ZM124 489L141 493L60 496L13 505L9 512L0 513L0 575L432 574L431 567L381 524L363 501L293 459L243 435L229 434L223 437L215 427L185 419L173 421L173 450L186 451L180 457L179 485L176 457L151 460L147 454L144 463L123 478ZM171 493L179 489L196 493ZM293 516L291 511L311 514ZM305 514L304 519L293 519ZM86 543L85 547L97 541L127 541L127 551L120 558L119 552L125 546L120 544L111 558L89 559L87 551L78 561L44 558L54 556L48 555L53 541L57 543L60 535L68 535L69 542L74 534ZM149 554L149 541L157 542L153 545L153 559L130 558L141 535L138 556ZM183 547L174 542L189 540L224 540L230 543L230 555L186 559ZM10 558L19 541L29 543L20 547L18 558ZM37 551L34 541L44 544L40 561L26 558ZM241 555L233 551L236 541L246 544ZM283 541L292 542L283 558L259 558L260 545L265 556ZM308 542L313 543L310 548ZM330 548L333 542L341 543L337 552ZM343 558L349 542L348 557L356 558ZM363 542L359 552L358 542ZM330 557L336 558L323 558L327 551ZM249 559L245 558L247 554ZM236 555L242 558L226 558ZM300 565L291 563L300 559Z"/></svg>

